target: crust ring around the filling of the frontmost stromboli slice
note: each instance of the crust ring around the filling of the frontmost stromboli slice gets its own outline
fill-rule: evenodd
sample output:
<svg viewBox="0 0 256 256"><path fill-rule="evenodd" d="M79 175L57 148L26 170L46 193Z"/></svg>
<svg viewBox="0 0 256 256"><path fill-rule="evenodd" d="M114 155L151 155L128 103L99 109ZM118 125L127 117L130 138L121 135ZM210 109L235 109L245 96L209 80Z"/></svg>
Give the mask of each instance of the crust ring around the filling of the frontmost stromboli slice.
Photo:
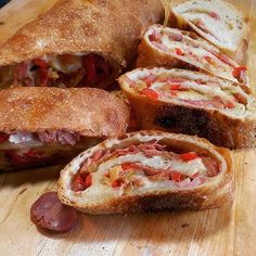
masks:
<svg viewBox="0 0 256 256"><path fill-rule="evenodd" d="M124 148L138 142L164 141L168 146L185 151L207 151L220 165L220 172L195 188L169 188L140 191L119 196L112 188L99 189L95 184L86 191L72 190L73 177L82 163L99 150ZM90 192L89 192L90 190ZM212 145L204 139L159 131L140 131L111 139L85 151L62 171L59 180L59 197L62 203L88 214L125 214L161 209L205 209L230 204L233 196L231 157L228 150Z"/></svg>

